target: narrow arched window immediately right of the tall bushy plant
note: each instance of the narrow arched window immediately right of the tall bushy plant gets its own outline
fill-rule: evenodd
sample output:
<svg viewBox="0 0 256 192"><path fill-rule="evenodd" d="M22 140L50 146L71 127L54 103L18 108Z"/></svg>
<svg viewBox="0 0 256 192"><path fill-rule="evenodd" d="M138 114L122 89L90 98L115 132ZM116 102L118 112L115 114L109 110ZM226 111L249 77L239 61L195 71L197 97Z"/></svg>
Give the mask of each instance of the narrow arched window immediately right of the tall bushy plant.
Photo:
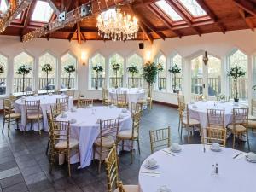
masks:
<svg viewBox="0 0 256 192"><path fill-rule="evenodd" d="M154 62L159 67L159 73L157 75L157 89L165 90L166 89L166 56L163 54L157 55L154 59Z"/></svg>

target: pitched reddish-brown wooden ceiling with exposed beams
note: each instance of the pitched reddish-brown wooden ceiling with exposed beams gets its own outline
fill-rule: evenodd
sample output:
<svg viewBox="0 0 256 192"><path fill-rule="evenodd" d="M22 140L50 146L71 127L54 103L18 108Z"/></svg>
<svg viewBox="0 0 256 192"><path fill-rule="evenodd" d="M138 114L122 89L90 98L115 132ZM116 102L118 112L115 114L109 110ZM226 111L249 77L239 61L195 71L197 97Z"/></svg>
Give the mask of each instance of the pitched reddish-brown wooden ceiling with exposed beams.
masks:
<svg viewBox="0 0 256 192"><path fill-rule="evenodd" d="M0 0L4 1L4 0ZM8 1L8 0L6 0ZM32 21L32 14L38 0L33 0L28 9L15 20L2 33L2 35L20 36L44 26L45 23ZM46 1L54 10L49 22L56 19L56 14L63 11L75 9L88 0L40 0ZM158 0L127 0L115 2L122 3L121 9L130 15L136 15L139 20L140 30L137 39L148 39L151 43L154 39L182 38L183 36L199 35L210 32L234 31L241 29L251 29L256 26L256 0L195 0L206 15L193 16L192 11L186 8L183 0L165 0L168 5L181 17L181 20L174 21L163 9L157 6ZM190 0L192 1L192 0ZM79 44L86 40L104 40L97 34L96 14L101 9L106 9L105 0L91 1L93 3L93 15L85 20L62 28L56 32L48 34L44 38L61 38L78 40ZM107 1L108 5L113 5L113 0Z"/></svg>

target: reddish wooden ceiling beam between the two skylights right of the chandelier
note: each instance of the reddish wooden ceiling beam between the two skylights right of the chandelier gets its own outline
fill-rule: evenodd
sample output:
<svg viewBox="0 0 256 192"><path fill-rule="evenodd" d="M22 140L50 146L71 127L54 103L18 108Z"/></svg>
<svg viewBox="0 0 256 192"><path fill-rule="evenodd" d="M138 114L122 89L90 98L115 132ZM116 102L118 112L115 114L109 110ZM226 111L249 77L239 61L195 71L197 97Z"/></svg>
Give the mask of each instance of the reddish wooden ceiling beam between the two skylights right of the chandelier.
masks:
<svg viewBox="0 0 256 192"><path fill-rule="evenodd" d="M198 27L192 26L192 20L188 11L184 9L177 0L166 0L166 2L172 6L172 9L174 9L199 36L201 36L201 32Z"/></svg>

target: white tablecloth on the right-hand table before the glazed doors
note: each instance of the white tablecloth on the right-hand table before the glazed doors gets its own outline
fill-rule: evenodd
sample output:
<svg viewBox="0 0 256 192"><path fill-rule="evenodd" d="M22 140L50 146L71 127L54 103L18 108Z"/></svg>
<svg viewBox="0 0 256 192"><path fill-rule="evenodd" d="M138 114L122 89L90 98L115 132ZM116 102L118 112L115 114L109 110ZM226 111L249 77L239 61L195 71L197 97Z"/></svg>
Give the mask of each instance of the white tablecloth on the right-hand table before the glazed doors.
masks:
<svg viewBox="0 0 256 192"><path fill-rule="evenodd" d="M214 103L216 106L214 106ZM197 108L192 108L195 105ZM240 106L242 108L247 108L246 106ZM229 125L232 122L232 110L233 108L240 108L239 106L234 106L232 102L195 102L195 104L189 104L189 118L197 119L201 123L201 128L207 127L207 108L208 109L225 109L224 124Z"/></svg>

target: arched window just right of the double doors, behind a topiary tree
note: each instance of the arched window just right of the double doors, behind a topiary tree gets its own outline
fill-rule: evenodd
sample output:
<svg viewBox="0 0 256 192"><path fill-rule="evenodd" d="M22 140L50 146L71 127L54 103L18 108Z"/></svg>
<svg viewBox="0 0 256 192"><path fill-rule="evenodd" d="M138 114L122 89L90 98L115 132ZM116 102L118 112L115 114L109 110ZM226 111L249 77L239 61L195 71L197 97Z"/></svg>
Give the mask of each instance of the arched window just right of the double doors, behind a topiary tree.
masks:
<svg viewBox="0 0 256 192"><path fill-rule="evenodd" d="M247 71L247 64L248 58L247 55L241 52L241 50L236 50L231 54L228 58L229 62L229 69L232 67L241 67L243 71L246 72L244 77L237 79L237 93L238 98L242 100L247 100L248 98L248 87L247 87L247 80L248 80L248 71ZM230 78L230 97L234 98L235 96L235 84L234 81Z"/></svg>

